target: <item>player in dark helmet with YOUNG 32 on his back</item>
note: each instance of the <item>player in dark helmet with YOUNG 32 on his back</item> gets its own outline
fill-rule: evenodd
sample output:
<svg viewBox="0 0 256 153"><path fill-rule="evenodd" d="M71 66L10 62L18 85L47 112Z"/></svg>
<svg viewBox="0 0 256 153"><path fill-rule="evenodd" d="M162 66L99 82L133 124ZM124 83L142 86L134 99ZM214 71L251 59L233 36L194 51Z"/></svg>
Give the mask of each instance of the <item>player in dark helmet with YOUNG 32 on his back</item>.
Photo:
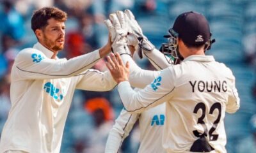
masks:
<svg viewBox="0 0 256 153"><path fill-rule="evenodd" d="M125 46L127 18L131 15L120 14L116 15L118 20L110 18L115 29L110 32L116 33L111 34L115 39L122 36ZM119 47L114 50L115 55L108 57L107 66L118 83L125 109L140 113L166 101L166 152L227 152L225 112L236 112L240 100L232 71L211 55L205 55L212 43L209 24L200 13L188 11L176 18L168 32L170 52L179 52L184 58L178 65L162 71L141 71L129 55L120 54L125 47ZM141 82L151 78L152 82L135 92L128 78Z"/></svg>

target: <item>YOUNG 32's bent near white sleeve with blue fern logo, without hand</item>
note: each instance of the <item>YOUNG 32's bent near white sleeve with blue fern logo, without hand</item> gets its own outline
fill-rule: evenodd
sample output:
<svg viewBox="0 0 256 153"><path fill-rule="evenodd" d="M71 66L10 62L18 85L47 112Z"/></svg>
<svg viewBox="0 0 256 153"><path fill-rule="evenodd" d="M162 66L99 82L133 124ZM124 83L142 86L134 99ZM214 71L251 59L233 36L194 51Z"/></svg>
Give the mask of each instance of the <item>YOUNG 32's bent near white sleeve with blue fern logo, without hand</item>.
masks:
<svg viewBox="0 0 256 153"><path fill-rule="evenodd" d="M141 78L140 80L143 80ZM133 91L129 82L120 82L118 92L127 112L140 113L172 98L175 86L169 68L163 69L159 76L144 89Z"/></svg>

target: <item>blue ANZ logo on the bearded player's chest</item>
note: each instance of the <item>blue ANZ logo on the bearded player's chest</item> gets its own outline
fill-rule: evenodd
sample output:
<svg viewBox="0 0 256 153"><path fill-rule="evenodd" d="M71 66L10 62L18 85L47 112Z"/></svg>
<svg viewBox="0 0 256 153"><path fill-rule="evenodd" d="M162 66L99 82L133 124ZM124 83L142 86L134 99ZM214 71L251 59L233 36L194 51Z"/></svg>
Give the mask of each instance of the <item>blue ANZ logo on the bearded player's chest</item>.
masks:
<svg viewBox="0 0 256 153"><path fill-rule="evenodd" d="M60 89L54 87L54 85L51 84L51 82L47 82L44 85L44 90L45 92L50 94L51 97L54 98L55 100L61 101L63 99L63 94L60 94Z"/></svg>

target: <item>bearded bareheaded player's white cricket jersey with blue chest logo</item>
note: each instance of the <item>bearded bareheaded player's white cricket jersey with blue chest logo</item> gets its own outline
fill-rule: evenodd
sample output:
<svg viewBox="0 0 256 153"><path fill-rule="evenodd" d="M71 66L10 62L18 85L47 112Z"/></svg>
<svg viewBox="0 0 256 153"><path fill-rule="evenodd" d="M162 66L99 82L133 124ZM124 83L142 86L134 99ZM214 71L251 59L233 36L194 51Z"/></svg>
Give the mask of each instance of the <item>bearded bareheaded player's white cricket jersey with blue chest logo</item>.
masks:
<svg viewBox="0 0 256 153"><path fill-rule="evenodd" d="M4 124L0 152L60 152L74 90L109 91L115 87L110 73L88 69L99 61L99 50L70 60L51 59L52 54L36 43L17 55L11 74L12 108Z"/></svg>

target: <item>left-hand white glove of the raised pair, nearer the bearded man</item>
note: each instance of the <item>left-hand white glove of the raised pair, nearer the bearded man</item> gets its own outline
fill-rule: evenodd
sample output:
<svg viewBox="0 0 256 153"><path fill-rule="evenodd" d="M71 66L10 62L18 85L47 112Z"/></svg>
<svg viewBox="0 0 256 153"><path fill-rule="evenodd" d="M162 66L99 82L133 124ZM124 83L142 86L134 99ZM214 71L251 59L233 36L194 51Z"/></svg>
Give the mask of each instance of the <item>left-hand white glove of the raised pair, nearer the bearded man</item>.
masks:
<svg viewBox="0 0 256 153"><path fill-rule="evenodd" d="M111 41L113 52L118 52L120 55L129 54L131 52L127 47L127 34L128 27L125 22L125 15L122 11L116 11L109 15L110 20L105 20L105 24L108 27L108 31L111 35Z"/></svg>

